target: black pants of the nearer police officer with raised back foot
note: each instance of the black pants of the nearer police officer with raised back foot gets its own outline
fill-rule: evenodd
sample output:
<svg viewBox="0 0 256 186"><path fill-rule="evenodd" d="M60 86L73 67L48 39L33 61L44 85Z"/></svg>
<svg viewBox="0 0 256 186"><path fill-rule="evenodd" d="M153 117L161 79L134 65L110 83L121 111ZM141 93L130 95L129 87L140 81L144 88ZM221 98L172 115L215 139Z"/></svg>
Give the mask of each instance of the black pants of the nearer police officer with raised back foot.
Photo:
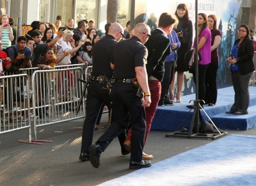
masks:
<svg viewBox="0 0 256 186"><path fill-rule="evenodd" d="M135 96L136 89L128 83L115 83L111 90L112 122L106 133L96 143L104 151L109 143L127 127L132 127L130 161L141 162L146 131L145 109L141 99ZM130 123L129 123L130 121Z"/></svg>

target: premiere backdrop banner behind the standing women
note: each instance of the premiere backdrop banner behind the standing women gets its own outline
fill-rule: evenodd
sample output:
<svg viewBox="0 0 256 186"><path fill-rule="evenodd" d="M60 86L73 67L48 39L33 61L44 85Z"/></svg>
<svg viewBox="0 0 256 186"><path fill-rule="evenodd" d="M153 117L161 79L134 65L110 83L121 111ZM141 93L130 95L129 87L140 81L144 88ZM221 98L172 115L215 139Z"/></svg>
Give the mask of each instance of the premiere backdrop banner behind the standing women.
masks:
<svg viewBox="0 0 256 186"><path fill-rule="evenodd" d="M195 38L195 0L139 0L135 1L135 24L144 22L151 30L156 29L158 18L161 13L168 12L174 14L178 4L184 3L188 7L189 18L193 22ZM230 75L230 64L226 63L226 58L230 56L231 48L237 38L237 28L241 25L241 0L198 0L198 13L206 15L214 14L217 17L217 28L222 33L219 44L219 70L217 74L218 88L232 86ZM176 85L175 85L176 86ZM183 95L193 94L195 85L192 74L188 72L184 75Z"/></svg>

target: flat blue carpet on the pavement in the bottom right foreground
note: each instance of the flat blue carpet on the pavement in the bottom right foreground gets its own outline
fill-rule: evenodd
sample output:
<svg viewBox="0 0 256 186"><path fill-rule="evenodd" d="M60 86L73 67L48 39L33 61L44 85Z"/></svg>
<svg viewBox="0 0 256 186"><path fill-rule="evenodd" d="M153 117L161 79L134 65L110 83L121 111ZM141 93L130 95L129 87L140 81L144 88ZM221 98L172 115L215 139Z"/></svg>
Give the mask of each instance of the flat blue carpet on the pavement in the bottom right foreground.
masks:
<svg viewBox="0 0 256 186"><path fill-rule="evenodd" d="M255 144L232 134L100 186L255 186Z"/></svg>

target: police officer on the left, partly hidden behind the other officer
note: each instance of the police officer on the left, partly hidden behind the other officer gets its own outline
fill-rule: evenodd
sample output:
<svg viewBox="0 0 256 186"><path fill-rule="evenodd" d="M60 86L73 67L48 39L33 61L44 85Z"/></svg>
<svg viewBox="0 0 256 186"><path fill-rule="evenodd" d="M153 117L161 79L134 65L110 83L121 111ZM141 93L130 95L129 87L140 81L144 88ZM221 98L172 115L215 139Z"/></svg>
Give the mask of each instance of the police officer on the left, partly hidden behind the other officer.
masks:
<svg viewBox="0 0 256 186"><path fill-rule="evenodd" d="M89 160L89 146L93 141L95 123L100 115L102 103L106 104L110 110L111 98L106 85L113 76L113 70L110 67L111 54L117 41L123 37L122 32L124 32L122 26L119 23L113 23L109 27L108 35L93 46L93 70L91 82L87 88L86 116L83 123L82 147L79 157L82 161ZM123 146L125 138L126 131L123 130L123 133L119 135L122 155L129 154Z"/></svg>

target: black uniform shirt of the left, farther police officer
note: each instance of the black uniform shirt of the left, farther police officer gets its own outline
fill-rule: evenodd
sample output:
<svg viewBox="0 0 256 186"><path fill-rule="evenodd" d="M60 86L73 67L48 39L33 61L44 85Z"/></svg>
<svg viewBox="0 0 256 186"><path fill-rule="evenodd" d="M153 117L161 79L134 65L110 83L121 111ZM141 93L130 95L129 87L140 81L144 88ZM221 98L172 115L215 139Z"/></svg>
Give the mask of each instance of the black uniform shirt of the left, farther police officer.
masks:
<svg viewBox="0 0 256 186"><path fill-rule="evenodd" d="M117 41L112 35L100 39L93 46L93 72L94 76L106 75L112 77L113 70L110 67L111 55Z"/></svg>

